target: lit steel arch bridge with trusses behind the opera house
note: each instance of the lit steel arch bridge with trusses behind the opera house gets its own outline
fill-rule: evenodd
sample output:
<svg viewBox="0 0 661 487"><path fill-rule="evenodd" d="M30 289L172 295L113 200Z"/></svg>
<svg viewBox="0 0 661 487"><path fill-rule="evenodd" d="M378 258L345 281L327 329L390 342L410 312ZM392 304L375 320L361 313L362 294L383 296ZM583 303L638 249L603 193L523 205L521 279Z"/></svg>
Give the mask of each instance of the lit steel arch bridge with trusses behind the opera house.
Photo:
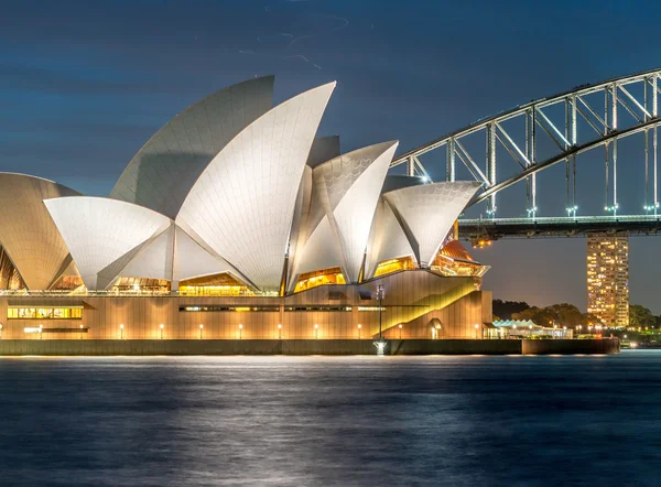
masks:
<svg viewBox="0 0 661 487"><path fill-rule="evenodd" d="M438 164L438 160L444 159L445 180L455 181L457 163L463 164L483 183L469 206L486 202L487 219L460 220L460 228L475 230L478 224L484 228L499 225L501 236L531 236L531 232L549 236L610 228L655 232L661 228L658 218L658 214L661 215L660 95L661 69L581 85L478 120L401 154L392 161L391 167L405 164L409 175L429 177L425 164ZM618 142L637 133L643 134L644 144L644 213L622 217L618 215ZM598 148L604 148L606 216L582 217L577 215L576 204L577 158ZM540 218L538 173L560 163L565 164L566 216ZM521 182L525 183L528 218L508 219L507 224L514 230L503 230L506 221L496 217L497 195Z"/></svg>

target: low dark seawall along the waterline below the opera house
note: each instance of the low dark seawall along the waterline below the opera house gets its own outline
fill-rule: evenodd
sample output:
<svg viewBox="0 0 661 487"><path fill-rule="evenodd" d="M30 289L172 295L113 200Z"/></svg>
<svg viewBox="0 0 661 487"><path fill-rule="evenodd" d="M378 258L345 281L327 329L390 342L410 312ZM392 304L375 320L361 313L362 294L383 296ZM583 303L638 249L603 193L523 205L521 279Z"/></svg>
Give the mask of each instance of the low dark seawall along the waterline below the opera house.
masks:
<svg viewBox="0 0 661 487"><path fill-rule="evenodd" d="M617 354L618 339L393 339L386 355ZM376 355L371 339L0 339L0 356Z"/></svg>

